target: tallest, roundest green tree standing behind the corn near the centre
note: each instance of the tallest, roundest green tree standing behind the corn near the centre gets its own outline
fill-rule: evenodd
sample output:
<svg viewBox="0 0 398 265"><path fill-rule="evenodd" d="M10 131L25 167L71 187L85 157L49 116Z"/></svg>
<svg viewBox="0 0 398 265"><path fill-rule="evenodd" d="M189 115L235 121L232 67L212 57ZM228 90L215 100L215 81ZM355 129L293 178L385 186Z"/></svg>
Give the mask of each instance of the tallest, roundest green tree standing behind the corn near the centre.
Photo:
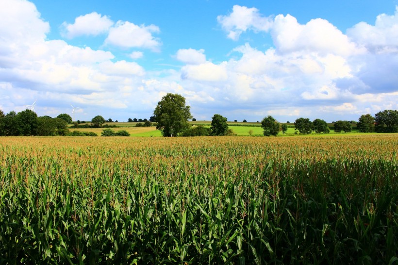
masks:
<svg viewBox="0 0 398 265"><path fill-rule="evenodd" d="M190 107L185 106L185 98L172 93L167 93L158 102L153 115L156 117L156 129L168 137L176 136L189 128L188 119L192 118Z"/></svg>

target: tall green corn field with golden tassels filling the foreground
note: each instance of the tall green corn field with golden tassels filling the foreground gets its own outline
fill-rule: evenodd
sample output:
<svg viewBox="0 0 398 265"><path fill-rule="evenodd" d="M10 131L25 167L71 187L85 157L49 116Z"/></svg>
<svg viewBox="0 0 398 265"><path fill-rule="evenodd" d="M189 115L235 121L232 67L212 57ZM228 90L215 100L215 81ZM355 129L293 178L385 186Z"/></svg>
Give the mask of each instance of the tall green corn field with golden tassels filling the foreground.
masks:
<svg viewBox="0 0 398 265"><path fill-rule="evenodd" d="M0 137L0 264L394 264L398 135Z"/></svg>

